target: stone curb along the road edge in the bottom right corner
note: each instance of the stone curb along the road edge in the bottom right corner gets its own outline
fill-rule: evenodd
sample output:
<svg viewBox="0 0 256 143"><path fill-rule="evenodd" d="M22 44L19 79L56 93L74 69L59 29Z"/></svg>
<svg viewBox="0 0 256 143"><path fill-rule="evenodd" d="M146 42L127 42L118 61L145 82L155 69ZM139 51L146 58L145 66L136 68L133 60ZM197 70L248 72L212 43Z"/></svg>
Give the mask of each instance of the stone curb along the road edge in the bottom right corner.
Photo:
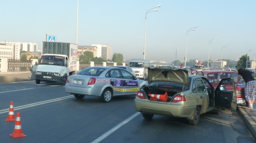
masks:
<svg viewBox="0 0 256 143"><path fill-rule="evenodd" d="M237 111L242 117L243 121L246 123L247 127L251 131L252 135L256 139L256 123L252 119L251 116L248 115L248 113L245 111L245 108L243 108L241 105L237 105Z"/></svg>

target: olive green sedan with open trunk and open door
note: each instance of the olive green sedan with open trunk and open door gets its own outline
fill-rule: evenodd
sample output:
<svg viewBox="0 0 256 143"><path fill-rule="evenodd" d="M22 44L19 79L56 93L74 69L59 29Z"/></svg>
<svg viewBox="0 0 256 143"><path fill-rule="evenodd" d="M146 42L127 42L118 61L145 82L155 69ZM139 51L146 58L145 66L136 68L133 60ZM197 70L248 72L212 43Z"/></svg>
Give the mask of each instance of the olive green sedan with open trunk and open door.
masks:
<svg viewBox="0 0 256 143"><path fill-rule="evenodd" d="M232 80L233 91L225 90L225 80ZM148 86L137 91L135 108L145 119L154 114L183 117L197 125L200 115L221 109L236 110L233 78L224 78L216 89L203 76L188 74L183 69L148 69Z"/></svg>

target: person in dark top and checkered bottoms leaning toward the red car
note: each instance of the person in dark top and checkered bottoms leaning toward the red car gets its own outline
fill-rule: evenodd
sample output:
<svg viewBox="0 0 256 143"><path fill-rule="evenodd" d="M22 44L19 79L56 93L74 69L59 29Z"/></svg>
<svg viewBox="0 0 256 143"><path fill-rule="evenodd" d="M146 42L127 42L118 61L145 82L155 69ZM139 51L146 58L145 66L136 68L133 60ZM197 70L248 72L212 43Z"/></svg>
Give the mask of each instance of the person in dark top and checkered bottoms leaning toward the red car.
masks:
<svg viewBox="0 0 256 143"><path fill-rule="evenodd" d="M242 76L243 80L245 80L245 99L248 102L248 108L249 110L253 110L253 103L255 100L255 93L256 93L256 80L252 76L252 73L245 69L238 69L238 78L236 82L236 86L240 81L240 78Z"/></svg>

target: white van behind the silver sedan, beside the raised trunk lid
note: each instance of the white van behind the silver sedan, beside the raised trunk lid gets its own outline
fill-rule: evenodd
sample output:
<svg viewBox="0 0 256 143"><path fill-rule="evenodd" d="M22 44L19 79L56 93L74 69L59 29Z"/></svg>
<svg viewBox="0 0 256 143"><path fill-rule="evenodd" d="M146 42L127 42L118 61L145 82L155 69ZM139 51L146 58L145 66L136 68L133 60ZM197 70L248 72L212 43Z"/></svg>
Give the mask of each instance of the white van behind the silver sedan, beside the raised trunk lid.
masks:
<svg viewBox="0 0 256 143"><path fill-rule="evenodd" d="M148 79L148 67L150 60L147 59L131 59L129 66L135 72L135 76L142 79Z"/></svg>

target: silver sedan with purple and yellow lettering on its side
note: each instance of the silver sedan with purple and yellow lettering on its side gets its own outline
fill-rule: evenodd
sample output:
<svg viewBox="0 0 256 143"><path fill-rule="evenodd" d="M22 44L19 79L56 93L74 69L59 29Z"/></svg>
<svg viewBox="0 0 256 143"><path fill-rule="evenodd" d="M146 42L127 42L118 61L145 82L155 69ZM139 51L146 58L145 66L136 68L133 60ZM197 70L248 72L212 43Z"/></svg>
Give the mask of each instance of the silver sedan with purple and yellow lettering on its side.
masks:
<svg viewBox="0 0 256 143"><path fill-rule="evenodd" d="M124 69L94 66L69 76L65 91L78 99L86 95L110 102L113 96L136 95L137 91L147 84L148 82L136 78Z"/></svg>

